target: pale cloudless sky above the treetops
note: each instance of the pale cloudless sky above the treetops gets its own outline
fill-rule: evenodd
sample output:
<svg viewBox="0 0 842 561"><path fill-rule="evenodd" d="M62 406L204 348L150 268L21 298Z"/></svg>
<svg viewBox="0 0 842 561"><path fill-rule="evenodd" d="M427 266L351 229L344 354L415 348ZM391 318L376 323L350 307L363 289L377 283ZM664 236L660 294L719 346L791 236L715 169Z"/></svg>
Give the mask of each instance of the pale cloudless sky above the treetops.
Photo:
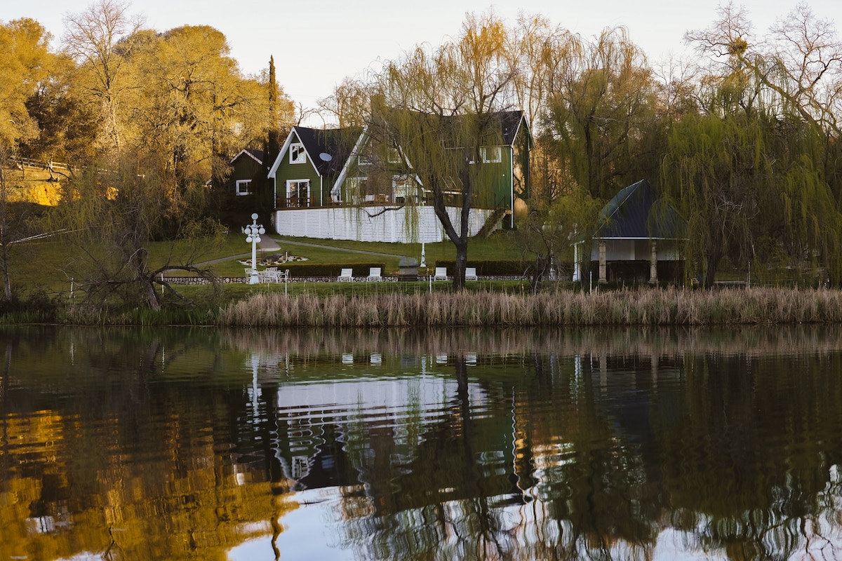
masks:
<svg viewBox="0 0 842 561"><path fill-rule="evenodd" d="M554 25L584 36L625 25L650 61L685 50L684 34L705 29L717 18L720 0L136 0L131 13L146 17L147 27L165 31L184 24L210 25L226 35L231 55L244 74L256 74L274 56L280 87L296 103L315 107L344 77L364 75L378 61L398 59L419 43L439 45L460 33L466 13L487 13L514 24L518 13L540 13ZM79 13L90 0L0 0L0 20L36 19L54 35L64 34L63 16ZM754 32L791 12L797 0L744 0ZM842 2L810 0L813 13L831 19L839 31Z"/></svg>

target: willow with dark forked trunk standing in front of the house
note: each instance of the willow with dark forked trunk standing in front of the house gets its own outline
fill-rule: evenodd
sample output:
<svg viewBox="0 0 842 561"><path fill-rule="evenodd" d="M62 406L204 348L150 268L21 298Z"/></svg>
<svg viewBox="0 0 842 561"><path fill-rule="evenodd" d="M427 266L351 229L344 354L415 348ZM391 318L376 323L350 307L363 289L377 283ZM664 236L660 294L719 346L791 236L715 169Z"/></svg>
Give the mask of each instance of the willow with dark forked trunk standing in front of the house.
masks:
<svg viewBox="0 0 842 561"><path fill-rule="evenodd" d="M370 135L390 147L433 205L456 247L454 288L465 286L471 210L495 206L491 162L498 160L488 150L504 144L517 74L506 45L500 20L469 17L457 40L432 52L418 47L376 81Z"/></svg>

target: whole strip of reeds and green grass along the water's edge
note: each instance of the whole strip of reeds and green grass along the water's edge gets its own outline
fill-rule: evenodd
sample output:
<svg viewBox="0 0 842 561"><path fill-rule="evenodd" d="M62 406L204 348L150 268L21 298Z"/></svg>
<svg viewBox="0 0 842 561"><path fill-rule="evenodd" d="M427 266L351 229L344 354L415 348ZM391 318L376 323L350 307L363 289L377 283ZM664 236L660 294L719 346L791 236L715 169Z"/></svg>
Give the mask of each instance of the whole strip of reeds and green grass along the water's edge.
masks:
<svg viewBox="0 0 842 561"><path fill-rule="evenodd" d="M379 284L379 283L378 283ZM379 288L379 287L378 287ZM4 310L0 325L195 327L584 327L842 324L836 288L558 288L537 294L490 288L285 295L283 289L190 308L103 306L45 300Z"/></svg>

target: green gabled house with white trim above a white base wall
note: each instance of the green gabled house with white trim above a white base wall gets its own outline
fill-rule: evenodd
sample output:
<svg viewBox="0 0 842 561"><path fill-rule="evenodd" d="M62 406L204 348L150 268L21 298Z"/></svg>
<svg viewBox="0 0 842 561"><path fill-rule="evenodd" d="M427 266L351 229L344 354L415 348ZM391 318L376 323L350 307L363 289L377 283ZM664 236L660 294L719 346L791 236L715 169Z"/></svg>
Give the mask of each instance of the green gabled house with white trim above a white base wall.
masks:
<svg viewBox="0 0 842 561"><path fill-rule="evenodd" d="M450 119L460 119L453 117ZM521 111L493 115L493 133L480 149L486 197L475 198L469 232L514 226L514 208L529 195L529 125ZM458 148L450 146L447 148ZM474 163L474 162L470 162ZM284 236L359 241L442 241L429 190L399 146L379 143L370 128L293 127L269 170L274 230ZM460 190L449 191L458 220ZM412 207L412 215L409 216ZM490 223L490 224L489 224Z"/></svg>

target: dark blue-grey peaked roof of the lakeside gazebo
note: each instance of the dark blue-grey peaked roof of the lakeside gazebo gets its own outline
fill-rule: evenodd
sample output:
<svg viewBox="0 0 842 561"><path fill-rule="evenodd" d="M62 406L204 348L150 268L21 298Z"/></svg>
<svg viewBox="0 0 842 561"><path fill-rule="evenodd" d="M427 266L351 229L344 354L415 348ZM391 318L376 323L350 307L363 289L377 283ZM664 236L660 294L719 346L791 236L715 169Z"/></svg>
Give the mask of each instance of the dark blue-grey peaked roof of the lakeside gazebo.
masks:
<svg viewBox="0 0 842 561"><path fill-rule="evenodd" d="M658 203L655 190L642 179L621 189L600 212L595 238L675 240L687 236L687 221L672 204Z"/></svg>

